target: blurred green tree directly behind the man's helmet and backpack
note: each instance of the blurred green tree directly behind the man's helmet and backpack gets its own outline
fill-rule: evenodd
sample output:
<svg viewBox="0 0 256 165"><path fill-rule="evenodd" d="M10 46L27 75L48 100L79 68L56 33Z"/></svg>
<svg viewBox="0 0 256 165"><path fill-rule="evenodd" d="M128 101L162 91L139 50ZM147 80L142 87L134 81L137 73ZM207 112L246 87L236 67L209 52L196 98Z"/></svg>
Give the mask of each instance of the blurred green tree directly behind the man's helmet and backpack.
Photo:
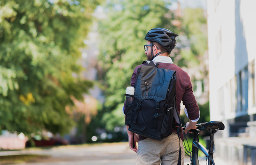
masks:
<svg viewBox="0 0 256 165"><path fill-rule="evenodd" d="M109 3L108 3L109 2ZM134 68L146 60L143 45L145 34L155 27L179 33L171 24L174 14L162 0L107 1L107 17L99 22L101 38L98 64L105 83L105 105L102 121L113 130L124 125L122 106L126 87L130 86Z"/></svg>

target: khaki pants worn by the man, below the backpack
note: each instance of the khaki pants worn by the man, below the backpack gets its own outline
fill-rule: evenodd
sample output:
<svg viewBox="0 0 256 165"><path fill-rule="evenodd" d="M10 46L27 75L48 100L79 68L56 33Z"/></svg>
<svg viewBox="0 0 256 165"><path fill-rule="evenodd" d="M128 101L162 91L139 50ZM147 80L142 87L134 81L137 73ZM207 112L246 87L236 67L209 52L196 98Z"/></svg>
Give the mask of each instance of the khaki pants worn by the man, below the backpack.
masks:
<svg viewBox="0 0 256 165"><path fill-rule="evenodd" d="M184 147L180 139L181 165L184 164ZM145 139L139 141L136 165L177 165L179 159L179 137L172 133L162 141ZM162 162L162 163L161 163Z"/></svg>

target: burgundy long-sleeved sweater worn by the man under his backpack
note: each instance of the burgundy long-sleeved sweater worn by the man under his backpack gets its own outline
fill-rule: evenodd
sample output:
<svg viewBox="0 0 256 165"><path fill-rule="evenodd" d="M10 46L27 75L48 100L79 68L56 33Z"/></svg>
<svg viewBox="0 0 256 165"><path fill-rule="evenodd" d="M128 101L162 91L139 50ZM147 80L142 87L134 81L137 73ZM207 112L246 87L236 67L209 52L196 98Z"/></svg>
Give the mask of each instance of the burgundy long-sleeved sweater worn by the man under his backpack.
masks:
<svg viewBox="0 0 256 165"><path fill-rule="evenodd" d="M175 64L168 64L168 63L158 63L159 68L164 68L168 70L176 71L176 106L177 110L180 113L180 103L181 101L185 105L188 111L188 118L190 120L195 120L199 117L199 107L196 103L195 96L193 95L192 84L190 81L190 77L188 73L182 70L180 67L176 66ZM145 64L143 64L145 65ZM134 73L131 76L131 86L134 87L136 81L136 74L139 67L142 65L137 66L134 69ZM125 106L124 106L125 112ZM173 128L173 133L176 133L177 130ZM180 134L183 140L183 134ZM139 140L144 140L146 137L139 136Z"/></svg>

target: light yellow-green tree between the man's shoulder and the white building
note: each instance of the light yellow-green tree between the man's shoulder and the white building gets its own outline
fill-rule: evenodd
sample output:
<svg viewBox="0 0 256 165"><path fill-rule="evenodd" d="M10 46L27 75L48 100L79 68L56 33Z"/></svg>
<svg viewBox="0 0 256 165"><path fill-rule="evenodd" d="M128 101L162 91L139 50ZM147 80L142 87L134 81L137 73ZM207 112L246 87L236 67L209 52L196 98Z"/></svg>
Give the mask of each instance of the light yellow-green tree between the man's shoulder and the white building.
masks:
<svg viewBox="0 0 256 165"><path fill-rule="evenodd" d="M179 67L187 67L191 81L203 81L207 78L208 67L205 63L207 51L207 25L205 11L202 8L185 8L181 20L181 35L185 36L187 45L182 45ZM195 86L193 86L195 87Z"/></svg>

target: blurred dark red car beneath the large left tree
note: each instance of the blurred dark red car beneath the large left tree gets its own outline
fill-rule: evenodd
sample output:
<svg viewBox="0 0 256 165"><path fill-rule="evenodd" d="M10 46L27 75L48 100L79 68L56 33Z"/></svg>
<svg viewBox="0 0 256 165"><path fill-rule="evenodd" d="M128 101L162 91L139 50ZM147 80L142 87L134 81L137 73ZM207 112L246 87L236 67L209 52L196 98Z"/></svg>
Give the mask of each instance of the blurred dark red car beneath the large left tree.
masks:
<svg viewBox="0 0 256 165"><path fill-rule="evenodd" d="M36 147L51 147L51 146L57 146L57 145L68 145L69 141L61 138L49 138L48 140L34 140ZM26 147L30 147L31 142L26 142Z"/></svg>

